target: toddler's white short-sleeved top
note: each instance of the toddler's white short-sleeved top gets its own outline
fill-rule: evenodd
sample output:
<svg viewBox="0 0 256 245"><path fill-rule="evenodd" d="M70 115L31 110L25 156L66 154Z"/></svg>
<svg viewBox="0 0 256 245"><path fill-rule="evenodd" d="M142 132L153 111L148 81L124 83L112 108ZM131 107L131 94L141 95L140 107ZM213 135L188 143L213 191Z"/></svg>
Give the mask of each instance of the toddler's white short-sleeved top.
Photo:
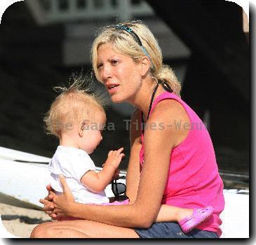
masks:
<svg viewBox="0 0 256 245"><path fill-rule="evenodd" d="M58 146L53 158L49 163L50 186L59 193L62 193L62 186L59 181L59 174L65 176L67 185L76 202L85 204L102 204L109 202L105 191L93 193L83 186L80 179L89 170L95 171L96 167L88 153L81 149L67 146Z"/></svg>

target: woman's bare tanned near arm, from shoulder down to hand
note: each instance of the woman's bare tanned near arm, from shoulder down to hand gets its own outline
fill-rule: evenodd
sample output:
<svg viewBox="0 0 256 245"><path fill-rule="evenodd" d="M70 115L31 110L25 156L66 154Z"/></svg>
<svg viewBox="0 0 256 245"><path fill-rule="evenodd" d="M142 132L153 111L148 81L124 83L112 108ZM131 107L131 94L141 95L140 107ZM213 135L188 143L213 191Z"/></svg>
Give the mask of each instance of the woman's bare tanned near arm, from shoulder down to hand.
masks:
<svg viewBox="0 0 256 245"><path fill-rule="evenodd" d="M159 106L161 104L161 106ZM187 113L175 101L164 101L154 109L147 125L169 125L170 120L187 123ZM172 119L173 118L173 119ZM152 129L144 134L144 166L140 175L137 198L134 204L100 206L68 202L65 195L54 196L55 211L76 218L98 221L122 227L148 228L159 214L163 191L168 179L170 153L173 147L187 136L187 132L175 127Z"/></svg>

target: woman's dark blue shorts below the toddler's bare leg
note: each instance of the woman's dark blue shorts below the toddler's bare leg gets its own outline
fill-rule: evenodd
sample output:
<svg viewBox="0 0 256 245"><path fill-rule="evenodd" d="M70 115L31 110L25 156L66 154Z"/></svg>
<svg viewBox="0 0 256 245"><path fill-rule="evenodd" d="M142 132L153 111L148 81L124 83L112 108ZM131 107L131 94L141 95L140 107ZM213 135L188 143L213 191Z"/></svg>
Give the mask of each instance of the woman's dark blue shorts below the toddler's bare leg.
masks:
<svg viewBox="0 0 256 245"><path fill-rule="evenodd" d="M215 232L207 230L191 230L184 233L178 223L160 222L154 223L147 229L134 229L140 238L219 238Z"/></svg>

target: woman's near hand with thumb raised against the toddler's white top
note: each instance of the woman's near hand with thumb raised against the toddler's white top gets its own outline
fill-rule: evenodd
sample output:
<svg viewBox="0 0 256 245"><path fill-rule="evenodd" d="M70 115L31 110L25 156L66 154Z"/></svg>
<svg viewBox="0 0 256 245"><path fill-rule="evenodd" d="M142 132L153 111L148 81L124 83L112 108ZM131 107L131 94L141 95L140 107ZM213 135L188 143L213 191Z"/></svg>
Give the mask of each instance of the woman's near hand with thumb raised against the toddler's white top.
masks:
<svg viewBox="0 0 256 245"><path fill-rule="evenodd" d="M50 217L60 220L62 218L72 216L72 207L76 203L74 202L74 196L72 195L71 190L69 189L69 186L67 186L67 182L65 180L65 177L60 175L59 176L60 183L62 184L63 188L63 194L62 195L56 195L52 191L50 191L50 195L53 196L53 214L50 215Z"/></svg>

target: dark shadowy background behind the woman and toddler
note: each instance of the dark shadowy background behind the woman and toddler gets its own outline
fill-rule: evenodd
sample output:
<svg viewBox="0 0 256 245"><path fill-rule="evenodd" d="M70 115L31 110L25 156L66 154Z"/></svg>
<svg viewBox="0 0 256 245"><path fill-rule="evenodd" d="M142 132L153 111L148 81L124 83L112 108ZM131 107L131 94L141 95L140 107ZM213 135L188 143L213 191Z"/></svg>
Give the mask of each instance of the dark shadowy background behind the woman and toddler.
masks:
<svg viewBox="0 0 256 245"><path fill-rule="evenodd" d="M229 1L25 0L0 25L0 146L51 157L44 113L72 72L91 76L90 46L98 27L142 20L182 83L182 99L206 123L225 185L248 186L250 162L249 43L243 10ZM92 76L93 77L93 76ZM95 79L93 77L93 79ZM95 80L98 89L105 93ZM103 140L91 155L100 167L124 147L133 106L110 104ZM161 167L161 162L159 162Z"/></svg>

